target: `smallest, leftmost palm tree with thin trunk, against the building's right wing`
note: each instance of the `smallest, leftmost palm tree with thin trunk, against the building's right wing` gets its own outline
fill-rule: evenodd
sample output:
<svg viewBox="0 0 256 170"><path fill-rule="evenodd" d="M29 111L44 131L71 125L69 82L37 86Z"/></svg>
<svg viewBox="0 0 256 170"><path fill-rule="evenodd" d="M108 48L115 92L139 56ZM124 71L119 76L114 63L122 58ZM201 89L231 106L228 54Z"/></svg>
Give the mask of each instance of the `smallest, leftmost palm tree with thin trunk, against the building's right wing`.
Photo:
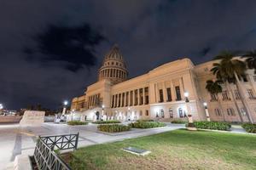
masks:
<svg viewBox="0 0 256 170"><path fill-rule="evenodd" d="M210 94L217 96L218 105L220 107L220 110L221 110L221 113L222 113L222 116L223 116L223 119L225 122L226 120L225 120L225 116L224 116L224 110L222 108L222 105L220 104L220 100L218 99L218 94L222 93L222 87L221 87L220 83L222 83L222 81L220 81L220 80L217 80L215 82L213 82L212 80L207 80L206 88Z"/></svg>

